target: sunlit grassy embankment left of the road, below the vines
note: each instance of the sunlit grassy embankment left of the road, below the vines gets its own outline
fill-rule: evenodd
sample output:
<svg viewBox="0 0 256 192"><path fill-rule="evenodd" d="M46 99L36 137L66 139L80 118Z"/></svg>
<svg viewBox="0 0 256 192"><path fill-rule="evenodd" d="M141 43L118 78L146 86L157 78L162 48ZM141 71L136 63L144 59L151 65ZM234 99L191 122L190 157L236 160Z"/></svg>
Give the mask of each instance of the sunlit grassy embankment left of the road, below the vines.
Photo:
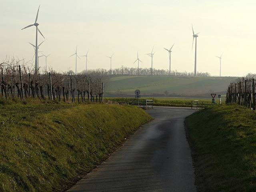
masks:
<svg viewBox="0 0 256 192"><path fill-rule="evenodd" d="M60 191L151 117L134 106L0 100L0 191Z"/></svg>

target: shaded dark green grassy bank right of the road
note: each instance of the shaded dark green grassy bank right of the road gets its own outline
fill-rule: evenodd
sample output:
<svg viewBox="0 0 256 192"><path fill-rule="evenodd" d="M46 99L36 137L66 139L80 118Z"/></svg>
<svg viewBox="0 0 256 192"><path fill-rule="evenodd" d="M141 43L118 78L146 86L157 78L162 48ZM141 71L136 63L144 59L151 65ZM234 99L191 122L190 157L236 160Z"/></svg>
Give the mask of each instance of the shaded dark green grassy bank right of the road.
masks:
<svg viewBox="0 0 256 192"><path fill-rule="evenodd" d="M256 112L238 105L186 118L198 192L256 191Z"/></svg>

